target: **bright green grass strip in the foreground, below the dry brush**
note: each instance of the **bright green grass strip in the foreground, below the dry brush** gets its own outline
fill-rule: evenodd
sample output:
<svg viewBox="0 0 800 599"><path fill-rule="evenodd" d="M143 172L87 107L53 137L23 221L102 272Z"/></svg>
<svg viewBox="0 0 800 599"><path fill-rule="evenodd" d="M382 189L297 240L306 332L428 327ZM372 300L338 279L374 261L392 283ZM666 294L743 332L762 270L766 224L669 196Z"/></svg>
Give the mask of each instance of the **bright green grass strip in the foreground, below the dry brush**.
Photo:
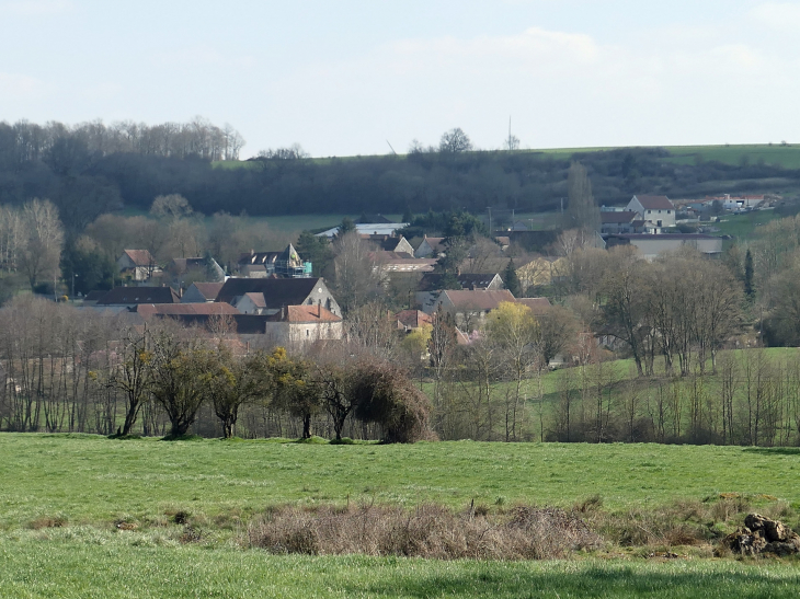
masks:
<svg viewBox="0 0 800 599"><path fill-rule="evenodd" d="M435 562L147 545L127 533L0 537L0 597L795 598L791 564Z"/></svg>

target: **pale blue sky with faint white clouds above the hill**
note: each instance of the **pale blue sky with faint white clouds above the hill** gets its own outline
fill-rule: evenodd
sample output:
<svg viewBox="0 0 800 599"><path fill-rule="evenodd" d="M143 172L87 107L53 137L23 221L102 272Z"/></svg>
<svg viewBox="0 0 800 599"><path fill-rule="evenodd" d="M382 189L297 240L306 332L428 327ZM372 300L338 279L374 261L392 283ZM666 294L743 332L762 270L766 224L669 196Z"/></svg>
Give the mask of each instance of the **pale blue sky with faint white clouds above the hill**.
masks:
<svg viewBox="0 0 800 599"><path fill-rule="evenodd" d="M800 142L799 2L0 0L0 120L229 123L242 157Z"/></svg>

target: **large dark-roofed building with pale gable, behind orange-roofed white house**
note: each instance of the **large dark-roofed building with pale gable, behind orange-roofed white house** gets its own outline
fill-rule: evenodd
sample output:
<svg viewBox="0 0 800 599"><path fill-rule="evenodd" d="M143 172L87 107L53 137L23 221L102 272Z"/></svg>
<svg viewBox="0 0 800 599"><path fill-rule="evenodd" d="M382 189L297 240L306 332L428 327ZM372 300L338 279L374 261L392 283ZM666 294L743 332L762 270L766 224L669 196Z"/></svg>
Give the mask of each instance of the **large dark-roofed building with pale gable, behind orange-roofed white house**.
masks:
<svg viewBox="0 0 800 599"><path fill-rule="evenodd" d="M252 310L261 315L275 314L287 306L318 304L338 316L342 315L342 309L322 278L231 277L222 285L216 301L228 302L240 310L245 307L251 310L252 306Z"/></svg>

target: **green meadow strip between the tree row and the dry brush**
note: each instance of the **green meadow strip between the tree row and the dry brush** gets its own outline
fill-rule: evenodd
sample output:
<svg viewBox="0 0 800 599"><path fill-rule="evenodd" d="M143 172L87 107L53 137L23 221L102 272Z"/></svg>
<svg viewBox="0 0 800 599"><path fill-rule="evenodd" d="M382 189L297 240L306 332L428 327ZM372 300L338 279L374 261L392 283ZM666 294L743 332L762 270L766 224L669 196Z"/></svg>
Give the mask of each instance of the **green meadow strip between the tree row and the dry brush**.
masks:
<svg viewBox="0 0 800 599"><path fill-rule="evenodd" d="M769 471L769 476L762 473ZM281 441L113 441L92 435L0 436L0 528L38 518L110 525L168 511L248 516L270 504L376 502L464 507L569 507L599 494L609 508L720 493L800 507L800 449L713 446Z"/></svg>

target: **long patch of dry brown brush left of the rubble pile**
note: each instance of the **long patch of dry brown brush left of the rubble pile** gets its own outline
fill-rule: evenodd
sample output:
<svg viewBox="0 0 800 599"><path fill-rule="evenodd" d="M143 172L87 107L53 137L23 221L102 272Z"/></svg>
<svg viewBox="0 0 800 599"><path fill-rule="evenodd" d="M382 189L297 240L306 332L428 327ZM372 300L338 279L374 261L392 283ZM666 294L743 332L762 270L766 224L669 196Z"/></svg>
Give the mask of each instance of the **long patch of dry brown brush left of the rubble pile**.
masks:
<svg viewBox="0 0 800 599"><path fill-rule="evenodd" d="M272 553L403 555L438 560L541 560L598 546L576 516L521 506L503 514L438 505L275 507L249 528L251 546Z"/></svg>

